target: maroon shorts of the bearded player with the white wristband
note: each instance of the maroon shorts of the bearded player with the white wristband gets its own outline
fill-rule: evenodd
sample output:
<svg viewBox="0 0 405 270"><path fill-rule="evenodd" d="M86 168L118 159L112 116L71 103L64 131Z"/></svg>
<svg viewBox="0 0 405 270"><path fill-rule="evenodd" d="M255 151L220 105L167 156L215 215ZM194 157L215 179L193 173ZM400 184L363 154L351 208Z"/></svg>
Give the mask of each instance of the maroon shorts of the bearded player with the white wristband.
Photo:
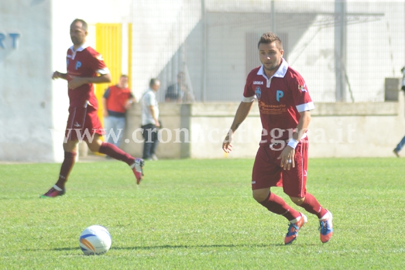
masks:
<svg viewBox="0 0 405 270"><path fill-rule="evenodd" d="M286 147L285 144L284 147ZM306 169L308 165L308 138L299 141L295 148L295 167L284 170L280 167L280 156L284 149L281 144L262 145L258 149L251 176L251 189L282 186L284 193L291 197L305 197L306 195Z"/></svg>

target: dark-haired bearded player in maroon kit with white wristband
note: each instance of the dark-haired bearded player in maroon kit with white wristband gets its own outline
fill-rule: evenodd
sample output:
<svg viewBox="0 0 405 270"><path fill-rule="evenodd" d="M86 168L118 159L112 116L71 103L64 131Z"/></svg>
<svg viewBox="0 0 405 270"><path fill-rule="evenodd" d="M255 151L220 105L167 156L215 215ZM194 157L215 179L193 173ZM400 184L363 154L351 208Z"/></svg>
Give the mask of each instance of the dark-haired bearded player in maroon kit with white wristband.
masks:
<svg viewBox="0 0 405 270"><path fill-rule="evenodd" d="M263 130L252 173L253 197L270 212L289 220L284 243L291 244L308 219L271 193L271 186L282 186L294 204L318 217L321 242L326 243L333 234L332 214L306 192L306 131L314 103L302 76L282 58L284 50L278 36L272 32L263 34L258 51L262 66L247 75L243 100L222 149L226 153L232 151L232 136L257 98Z"/></svg>

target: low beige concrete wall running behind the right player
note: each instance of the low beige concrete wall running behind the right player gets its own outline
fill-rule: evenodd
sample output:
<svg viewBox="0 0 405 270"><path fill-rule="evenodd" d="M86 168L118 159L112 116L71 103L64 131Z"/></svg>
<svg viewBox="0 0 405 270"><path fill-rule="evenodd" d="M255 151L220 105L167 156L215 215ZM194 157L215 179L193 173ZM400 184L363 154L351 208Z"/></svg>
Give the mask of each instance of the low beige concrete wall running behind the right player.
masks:
<svg viewBox="0 0 405 270"><path fill-rule="evenodd" d="M224 154L222 141L239 103L160 104L164 132L159 158L254 158L262 129L257 103L234 135L231 154ZM309 127L311 158L392 157L392 150L405 135L404 95L398 102L316 103ZM127 114L123 149L141 156L140 104ZM189 132L189 143L184 132ZM176 131L177 130L177 131ZM171 134L171 138L167 136ZM176 134L180 134L177 137ZM180 140L178 139L180 138ZM177 140L177 142L176 142Z"/></svg>

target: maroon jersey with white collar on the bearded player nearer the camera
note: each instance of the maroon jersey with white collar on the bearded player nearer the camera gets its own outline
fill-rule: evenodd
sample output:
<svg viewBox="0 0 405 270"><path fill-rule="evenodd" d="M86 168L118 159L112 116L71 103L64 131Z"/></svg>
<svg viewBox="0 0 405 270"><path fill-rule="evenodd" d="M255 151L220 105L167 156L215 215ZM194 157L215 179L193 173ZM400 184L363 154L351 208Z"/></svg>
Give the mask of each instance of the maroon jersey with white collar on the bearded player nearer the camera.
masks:
<svg viewBox="0 0 405 270"><path fill-rule="evenodd" d="M263 66L247 75L243 101L253 101L255 96L263 127L260 145L291 138L300 118L299 112L315 108L304 78L284 59L271 78L267 78Z"/></svg>

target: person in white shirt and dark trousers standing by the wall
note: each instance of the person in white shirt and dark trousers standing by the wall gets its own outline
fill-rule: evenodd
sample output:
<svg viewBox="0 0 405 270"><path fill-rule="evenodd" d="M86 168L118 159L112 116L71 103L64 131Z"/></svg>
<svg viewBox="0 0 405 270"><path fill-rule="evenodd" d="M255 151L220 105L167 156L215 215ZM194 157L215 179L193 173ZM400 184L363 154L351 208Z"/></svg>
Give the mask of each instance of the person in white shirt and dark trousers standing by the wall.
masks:
<svg viewBox="0 0 405 270"><path fill-rule="evenodd" d="M142 97L142 128L143 138L143 159L158 160L156 149L159 144L158 129L160 128L159 121L159 106L156 100L156 92L160 88L158 79L151 79L149 89Z"/></svg>

